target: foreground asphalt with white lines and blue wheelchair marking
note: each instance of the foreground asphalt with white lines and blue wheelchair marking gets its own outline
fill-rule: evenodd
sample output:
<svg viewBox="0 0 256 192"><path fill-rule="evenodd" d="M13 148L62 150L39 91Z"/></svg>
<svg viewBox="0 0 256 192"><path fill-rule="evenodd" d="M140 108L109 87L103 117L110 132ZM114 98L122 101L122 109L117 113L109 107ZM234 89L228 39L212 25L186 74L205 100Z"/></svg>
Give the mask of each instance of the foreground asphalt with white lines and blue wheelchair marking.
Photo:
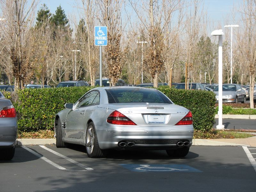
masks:
<svg viewBox="0 0 256 192"><path fill-rule="evenodd" d="M0 162L0 191L255 191L255 154L252 147L192 146L184 158L123 151L92 159L82 146L17 146L12 161Z"/></svg>

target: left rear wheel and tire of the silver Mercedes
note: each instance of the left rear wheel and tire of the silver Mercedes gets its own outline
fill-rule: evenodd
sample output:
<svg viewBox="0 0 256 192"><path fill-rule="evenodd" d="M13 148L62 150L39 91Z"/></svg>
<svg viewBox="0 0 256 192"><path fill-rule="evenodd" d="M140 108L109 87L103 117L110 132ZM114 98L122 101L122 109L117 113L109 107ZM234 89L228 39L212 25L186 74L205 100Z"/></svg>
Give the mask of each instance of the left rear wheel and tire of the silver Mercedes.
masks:
<svg viewBox="0 0 256 192"><path fill-rule="evenodd" d="M86 153L88 157L99 158L104 155L103 151L100 149L97 133L95 131L95 126L92 122L90 122L87 126L84 140Z"/></svg>

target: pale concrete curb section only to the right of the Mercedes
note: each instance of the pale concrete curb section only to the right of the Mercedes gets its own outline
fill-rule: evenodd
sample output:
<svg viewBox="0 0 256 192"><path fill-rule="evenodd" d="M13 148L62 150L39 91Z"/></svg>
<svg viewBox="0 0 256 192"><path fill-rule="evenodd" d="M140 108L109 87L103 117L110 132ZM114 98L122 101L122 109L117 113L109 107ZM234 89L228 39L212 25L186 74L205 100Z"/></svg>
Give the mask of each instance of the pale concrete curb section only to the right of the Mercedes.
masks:
<svg viewBox="0 0 256 192"><path fill-rule="evenodd" d="M202 145L202 146L246 146L250 147L250 145L238 144L238 143L228 143L222 141L214 141L208 139L193 139L192 145Z"/></svg>

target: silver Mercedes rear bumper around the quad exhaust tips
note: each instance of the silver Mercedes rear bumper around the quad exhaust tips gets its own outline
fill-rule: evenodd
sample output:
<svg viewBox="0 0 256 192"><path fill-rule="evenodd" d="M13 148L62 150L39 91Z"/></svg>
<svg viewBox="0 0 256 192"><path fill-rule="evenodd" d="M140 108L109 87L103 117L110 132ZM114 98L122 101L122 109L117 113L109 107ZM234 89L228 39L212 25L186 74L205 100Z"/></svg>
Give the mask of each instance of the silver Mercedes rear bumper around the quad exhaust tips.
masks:
<svg viewBox="0 0 256 192"><path fill-rule="evenodd" d="M186 126L136 126L129 129L131 126L101 126L96 128L99 146L101 149L173 149L179 148L179 141L187 141L190 147L192 145L194 128L193 125ZM156 131L157 130L157 131ZM124 147L121 147L120 142L126 142ZM133 146L127 144L132 142ZM180 146L184 147L184 146Z"/></svg>

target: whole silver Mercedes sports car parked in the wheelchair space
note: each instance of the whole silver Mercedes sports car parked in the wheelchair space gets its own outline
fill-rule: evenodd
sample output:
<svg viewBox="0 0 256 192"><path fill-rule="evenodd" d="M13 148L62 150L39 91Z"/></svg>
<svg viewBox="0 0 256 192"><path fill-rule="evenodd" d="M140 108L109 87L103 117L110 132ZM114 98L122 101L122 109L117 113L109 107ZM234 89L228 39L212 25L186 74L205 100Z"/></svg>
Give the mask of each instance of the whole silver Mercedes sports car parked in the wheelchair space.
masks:
<svg viewBox="0 0 256 192"><path fill-rule="evenodd" d="M98 87L56 114L56 147L84 145L89 157L101 157L108 149L166 150L169 156L186 156L192 123L188 109L156 89Z"/></svg>

